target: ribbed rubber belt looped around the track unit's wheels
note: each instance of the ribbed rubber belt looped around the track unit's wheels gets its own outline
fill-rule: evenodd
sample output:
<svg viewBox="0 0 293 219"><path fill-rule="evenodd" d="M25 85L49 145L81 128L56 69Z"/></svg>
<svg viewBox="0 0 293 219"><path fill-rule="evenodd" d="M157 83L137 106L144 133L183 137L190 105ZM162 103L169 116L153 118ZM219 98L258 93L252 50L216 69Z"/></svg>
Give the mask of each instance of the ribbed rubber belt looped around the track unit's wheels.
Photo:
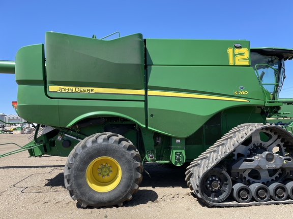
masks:
<svg viewBox="0 0 293 219"><path fill-rule="evenodd" d="M190 163L190 166L187 167L185 180L187 181L187 186L193 193L205 204L208 206L250 206L250 205L269 205L269 204L284 204L284 203L293 203L293 200L285 201L274 201L270 200L267 202L256 202L251 201L249 203L239 203L235 200L226 199L224 202L215 203L210 202L204 199L200 195L198 185L201 177L204 173L208 172L210 169L215 167L221 160L226 156L232 153L246 138L248 138L254 131L269 128L274 130L274 134L280 135L281 138L286 139L286 147L288 145L293 145L293 136L291 133L287 132L281 126L276 126L275 124L266 124L262 123L247 123L239 125L231 129L226 133L221 139L219 139L214 145L212 145L206 152L203 152L198 158Z"/></svg>

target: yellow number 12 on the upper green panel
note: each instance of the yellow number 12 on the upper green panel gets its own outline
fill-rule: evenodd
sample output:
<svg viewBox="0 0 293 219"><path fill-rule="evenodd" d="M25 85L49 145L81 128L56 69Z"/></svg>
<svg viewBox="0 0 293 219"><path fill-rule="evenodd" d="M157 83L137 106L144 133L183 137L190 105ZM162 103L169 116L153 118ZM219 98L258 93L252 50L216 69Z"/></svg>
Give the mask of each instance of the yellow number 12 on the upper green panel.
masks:
<svg viewBox="0 0 293 219"><path fill-rule="evenodd" d="M229 57L229 65L249 65L249 51L247 48L227 50Z"/></svg>

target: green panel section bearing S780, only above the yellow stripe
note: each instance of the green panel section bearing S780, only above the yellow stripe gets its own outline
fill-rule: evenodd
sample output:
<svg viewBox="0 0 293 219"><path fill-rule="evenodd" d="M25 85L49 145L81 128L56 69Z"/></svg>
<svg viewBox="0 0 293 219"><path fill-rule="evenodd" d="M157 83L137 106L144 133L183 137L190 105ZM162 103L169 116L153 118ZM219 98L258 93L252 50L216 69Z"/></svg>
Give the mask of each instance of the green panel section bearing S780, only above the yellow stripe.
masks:
<svg viewBox="0 0 293 219"><path fill-rule="evenodd" d="M263 100L252 67L148 66L148 89Z"/></svg>

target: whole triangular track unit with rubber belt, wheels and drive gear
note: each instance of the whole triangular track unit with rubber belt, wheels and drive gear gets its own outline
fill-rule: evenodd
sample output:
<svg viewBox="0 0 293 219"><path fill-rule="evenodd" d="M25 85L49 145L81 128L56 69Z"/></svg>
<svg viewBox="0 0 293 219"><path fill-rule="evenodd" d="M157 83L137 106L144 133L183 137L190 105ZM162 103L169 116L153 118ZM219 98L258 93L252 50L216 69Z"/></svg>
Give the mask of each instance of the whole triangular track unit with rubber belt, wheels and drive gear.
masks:
<svg viewBox="0 0 293 219"><path fill-rule="evenodd" d="M242 124L190 164L187 185L209 206L293 203L292 146L281 126Z"/></svg>

